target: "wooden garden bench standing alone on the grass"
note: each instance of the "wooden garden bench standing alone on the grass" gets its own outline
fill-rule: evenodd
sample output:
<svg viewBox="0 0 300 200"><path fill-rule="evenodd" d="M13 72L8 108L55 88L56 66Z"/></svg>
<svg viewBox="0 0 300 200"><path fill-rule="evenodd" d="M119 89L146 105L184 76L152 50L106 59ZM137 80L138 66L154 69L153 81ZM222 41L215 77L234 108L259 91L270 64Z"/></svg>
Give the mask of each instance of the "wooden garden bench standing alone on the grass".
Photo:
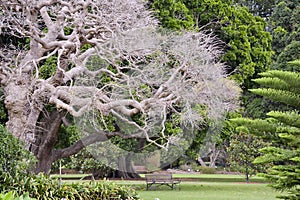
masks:
<svg viewBox="0 0 300 200"><path fill-rule="evenodd" d="M169 186L172 190L179 185L180 180L175 180L172 174L145 174L145 180L147 184L147 190L151 188L151 186L161 186L166 185Z"/></svg>

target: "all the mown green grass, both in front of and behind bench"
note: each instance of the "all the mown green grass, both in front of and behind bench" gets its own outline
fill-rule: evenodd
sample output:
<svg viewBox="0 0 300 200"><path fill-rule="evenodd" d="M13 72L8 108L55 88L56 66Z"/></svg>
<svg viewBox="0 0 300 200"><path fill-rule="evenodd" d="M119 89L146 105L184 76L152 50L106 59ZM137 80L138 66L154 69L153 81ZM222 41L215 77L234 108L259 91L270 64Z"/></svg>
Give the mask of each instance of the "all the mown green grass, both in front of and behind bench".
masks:
<svg viewBox="0 0 300 200"><path fill-rule="evenodd" d="M86 175L64 175L63 178L78 176L82 178ZM146 183L143 180L112 180L112 182L134 187L143 200L155 200L155 198L159 200L276 200L276 196L280 195L267 187L265 180L261 177L252 177L250 183L246 183L244 176L241 175L174 174L173 176L183 180L189 179L189 181L182 181L180 189L171 190L167 186L161 186L149 191L146 190ZM64 180L64 182L83 181L79 179Z"/></svg>

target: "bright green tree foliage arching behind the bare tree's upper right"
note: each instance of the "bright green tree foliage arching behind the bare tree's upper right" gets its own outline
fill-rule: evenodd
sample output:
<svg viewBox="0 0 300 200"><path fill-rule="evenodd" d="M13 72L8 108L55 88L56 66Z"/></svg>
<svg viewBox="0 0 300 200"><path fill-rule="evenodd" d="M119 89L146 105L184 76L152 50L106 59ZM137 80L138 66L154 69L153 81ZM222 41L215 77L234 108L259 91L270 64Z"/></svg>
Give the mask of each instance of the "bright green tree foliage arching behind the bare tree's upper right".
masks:
<svg viewBox="0 0 300 200"><path fill-rule="evenodd" d="M176 29L179 23L172 27L167 22L174 20L174 16L163 12L168 9L161 6L166 1L153 2L162 25ZM192 16L195 27L213 32L224 42L226 48L222 60L228 66L227 73L231 73L238 82L247 82L247 79L269 68L272 56L271 36L265 31L266 22L261 17L253 16L247 8L236 6L231 0L168 2L183 4L188 12L182 19Z"/></svg>

